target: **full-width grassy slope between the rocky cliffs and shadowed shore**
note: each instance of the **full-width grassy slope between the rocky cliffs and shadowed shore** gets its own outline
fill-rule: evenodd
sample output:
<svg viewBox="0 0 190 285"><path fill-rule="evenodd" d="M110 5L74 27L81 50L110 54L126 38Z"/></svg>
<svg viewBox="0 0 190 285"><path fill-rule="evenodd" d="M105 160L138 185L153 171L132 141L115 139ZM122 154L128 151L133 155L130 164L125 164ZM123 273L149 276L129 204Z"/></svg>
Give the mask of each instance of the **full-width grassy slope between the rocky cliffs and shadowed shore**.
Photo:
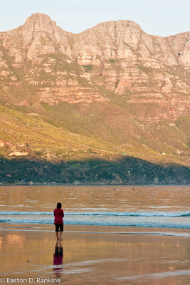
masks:
<svg viewBox="0 0 190 285"><path fill-rule="evenodd" d="M1 140L7 143L0 148L0 153L9 157L11 152L19 150L28 152L28 157L51 160L81 160L83 157L117 160L132 155L156 163L186 165L186 118L179 118L177 126L164 122L152 128L152 124L129 118L125 121L125 114L115 105L106 107L106 112L103 109L97 114L93 108L84 113L65 103L55 107L43 104L41 115L33 115L37 113L31 113L28 108L1 104ZM119 116L116 122L110 120L113 108L123 119Z"/></svg>

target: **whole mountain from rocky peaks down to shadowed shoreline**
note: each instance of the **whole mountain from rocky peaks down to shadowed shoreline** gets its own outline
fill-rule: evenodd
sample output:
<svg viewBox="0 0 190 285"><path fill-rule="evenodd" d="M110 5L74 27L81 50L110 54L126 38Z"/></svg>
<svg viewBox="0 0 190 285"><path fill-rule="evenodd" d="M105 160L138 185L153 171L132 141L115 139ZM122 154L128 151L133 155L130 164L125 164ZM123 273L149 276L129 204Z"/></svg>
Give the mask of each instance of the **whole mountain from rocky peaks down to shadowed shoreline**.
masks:
<svg viewBox="0 0 190 285"><path fill-rule="evenodd" d="M73 34L31 15L0 33L0 180L50 163L68 180L44 168L36 182L189 182L189 79L190 31L151 36L122 20Z"/></svg>

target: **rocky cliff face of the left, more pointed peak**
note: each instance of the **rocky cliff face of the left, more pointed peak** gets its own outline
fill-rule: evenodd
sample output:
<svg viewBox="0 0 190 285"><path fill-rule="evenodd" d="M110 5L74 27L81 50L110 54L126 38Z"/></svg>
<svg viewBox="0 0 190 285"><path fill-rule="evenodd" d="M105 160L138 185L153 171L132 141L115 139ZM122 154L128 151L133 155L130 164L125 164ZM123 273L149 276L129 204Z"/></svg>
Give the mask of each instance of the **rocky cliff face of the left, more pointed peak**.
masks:
<svg viewBox="0 0 190 285"><path fill-rule="evenodd" d="M23 26L1 33L0 38L4 98L11 93L15 103L31 105L31 100L23 100L27 89L34 100L49 104L103 100L92 88L89 74L73 61L73 35L48 16L33 14Z"/></svg>

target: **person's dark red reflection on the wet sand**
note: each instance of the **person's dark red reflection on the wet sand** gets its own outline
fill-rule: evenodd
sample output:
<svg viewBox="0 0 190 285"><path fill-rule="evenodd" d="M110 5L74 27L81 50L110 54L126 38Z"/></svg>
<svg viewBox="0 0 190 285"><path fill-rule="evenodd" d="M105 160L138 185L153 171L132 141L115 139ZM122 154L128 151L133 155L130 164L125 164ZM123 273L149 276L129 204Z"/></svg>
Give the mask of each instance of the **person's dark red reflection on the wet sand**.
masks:
<svg viewBox="0 0 190 285"><path fill-rule="evenodd" d="M61 271L63 269L63 266L60 266L63 264L63 247L60 242L56 242L55 252L53 254L53 271L56 274L56 277L59 278Z"/></svg>

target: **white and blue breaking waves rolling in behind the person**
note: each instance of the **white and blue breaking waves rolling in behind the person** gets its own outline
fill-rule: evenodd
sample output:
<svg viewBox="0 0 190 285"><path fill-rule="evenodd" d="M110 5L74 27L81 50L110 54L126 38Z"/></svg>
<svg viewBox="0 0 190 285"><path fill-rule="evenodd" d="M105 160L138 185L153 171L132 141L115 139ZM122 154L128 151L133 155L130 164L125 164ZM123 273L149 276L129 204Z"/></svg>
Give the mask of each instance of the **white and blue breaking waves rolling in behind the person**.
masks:
<svg viewBox="0 0 190 285"><path fill-rule="evenodd" d="M65 212L65 224L190 229L190 212ZM53 224L53 212L0 212L0 222Z"/></svg>

